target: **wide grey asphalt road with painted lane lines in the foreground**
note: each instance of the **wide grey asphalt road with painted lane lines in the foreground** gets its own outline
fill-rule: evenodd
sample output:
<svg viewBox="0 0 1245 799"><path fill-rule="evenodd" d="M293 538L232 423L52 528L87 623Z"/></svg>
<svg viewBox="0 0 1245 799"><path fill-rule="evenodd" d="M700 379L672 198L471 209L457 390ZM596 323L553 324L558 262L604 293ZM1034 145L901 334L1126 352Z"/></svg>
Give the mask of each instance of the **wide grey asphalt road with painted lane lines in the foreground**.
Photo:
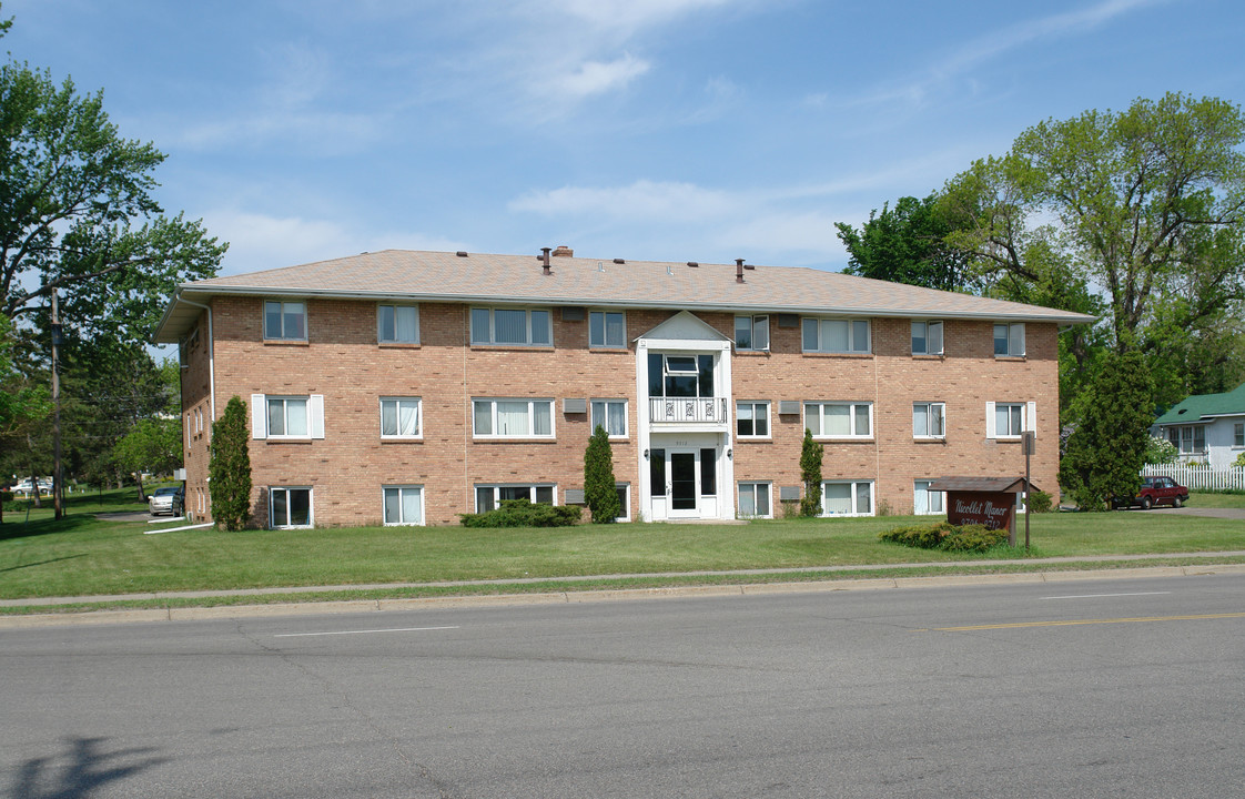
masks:
<svg viewBox="0 0 1245 799"><path fill-rule="evenodd" d="M0 631L0 794L1239 797L1245 575Z"/></svg>

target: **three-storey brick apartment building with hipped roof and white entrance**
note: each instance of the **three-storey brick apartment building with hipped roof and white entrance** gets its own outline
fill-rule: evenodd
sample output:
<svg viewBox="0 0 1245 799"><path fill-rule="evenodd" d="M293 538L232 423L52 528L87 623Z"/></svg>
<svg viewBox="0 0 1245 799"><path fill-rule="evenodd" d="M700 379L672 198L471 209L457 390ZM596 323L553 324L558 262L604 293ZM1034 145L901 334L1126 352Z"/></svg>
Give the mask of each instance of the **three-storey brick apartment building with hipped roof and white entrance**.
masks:
<svg viewBox="0 0 1245 799"><path fill-rule="evenodd" d="M815 269L388 250L182 285L187 512L250 406L256 521L452 524L583 502L610 433L624 519L782 515L804 431L827 515L941 513L945 475L1057 484L1061 326L1091 317Z"/></svg>

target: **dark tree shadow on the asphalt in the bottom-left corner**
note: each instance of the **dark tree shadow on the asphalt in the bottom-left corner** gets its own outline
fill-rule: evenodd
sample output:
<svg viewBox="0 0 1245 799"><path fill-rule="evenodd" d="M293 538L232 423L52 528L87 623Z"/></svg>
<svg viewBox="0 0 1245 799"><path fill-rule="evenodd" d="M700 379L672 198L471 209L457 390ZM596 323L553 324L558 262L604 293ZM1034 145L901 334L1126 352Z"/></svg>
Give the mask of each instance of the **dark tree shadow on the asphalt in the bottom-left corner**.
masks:
<svg viewBox="0 0 1245 799"><path fill-rule="evenodd" d="M97 788L169 762L146 757L152 747L103 752L105 738L71 738L60 755L31 758L17 769L12 793L16 799L80 799Z"/></svg>

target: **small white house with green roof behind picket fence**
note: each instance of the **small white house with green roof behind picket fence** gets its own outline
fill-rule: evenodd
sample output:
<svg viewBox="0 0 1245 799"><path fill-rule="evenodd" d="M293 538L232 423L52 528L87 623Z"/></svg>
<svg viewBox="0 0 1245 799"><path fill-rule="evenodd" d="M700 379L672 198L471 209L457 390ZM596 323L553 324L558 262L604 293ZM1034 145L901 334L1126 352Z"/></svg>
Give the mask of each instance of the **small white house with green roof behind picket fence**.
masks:
<svg viewBox="0 0 1245 799"><path fill-rule="evenodd" d="M1226 469L1245 452L1245 383L1183 400L1155 419L1152 431L1175 444L1182 463Z"/></svg>

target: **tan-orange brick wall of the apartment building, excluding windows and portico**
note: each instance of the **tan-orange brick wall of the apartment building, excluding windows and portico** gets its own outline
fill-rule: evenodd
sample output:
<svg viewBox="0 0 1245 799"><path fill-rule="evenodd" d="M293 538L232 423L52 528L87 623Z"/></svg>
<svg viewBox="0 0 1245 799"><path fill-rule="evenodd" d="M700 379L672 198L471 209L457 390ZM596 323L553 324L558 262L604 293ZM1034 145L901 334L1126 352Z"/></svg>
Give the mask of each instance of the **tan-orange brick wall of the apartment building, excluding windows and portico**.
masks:
<svg viewBox="0 0 1245 799"><path fill-rule="evenodd" d="M317 525L378 524L382 485L422 485L430 524L457 521L474 510L477 483L557 483L558 497L583 485L590 414L564 414L568 397L627 400L626 442L613 442L615 475L630 483L631 515L639 513L635 448L635 350L589 350L588 320L561 321L553 310L554 348L468 345L466 305L421 304L420 343L376 342L376 305L365 301L306 302L306 342L263 341L261 297L213 300L217 413L234 395L324 395L325 437L316 441L251 439L254 503L266 520L266 487L312 487ZM672 314L631 311L626 341ZM731 314L698 314L725 336ZM778 416L781 400L857 401L874 407L874 438L825 442L825 479L875 479L875 495L910 513L913 480L942 475L1020 475L1018 442L986 439L986 402L1036 401L1038 456L1033 480L1056 490L1058 376L1053 324L1030 324L1026 358L994 357L989 321L946 321L945 355L914 357L909 320L873 320L873 353L801 353L801 330L771 317L771 351L732 358L733 398L771 403L772 437L735 441L736 480L799 483L803 417ZM205 317L200 341L205 342ZM629 343L629 347L634 345ZM200 351L202 350L202 351ZM207 347L183 370L183 411L207 407ZM380 397L422 400L421 441L381 441ZM553 441L473 441L473 397L554 400ZM913 438L913 403L946 403L947 432L939 442ZM733 416L733 411L732 411ZM187 504L205 488L207 436L187 441ZM722 487L728 497L733 487Z"/></svg>

